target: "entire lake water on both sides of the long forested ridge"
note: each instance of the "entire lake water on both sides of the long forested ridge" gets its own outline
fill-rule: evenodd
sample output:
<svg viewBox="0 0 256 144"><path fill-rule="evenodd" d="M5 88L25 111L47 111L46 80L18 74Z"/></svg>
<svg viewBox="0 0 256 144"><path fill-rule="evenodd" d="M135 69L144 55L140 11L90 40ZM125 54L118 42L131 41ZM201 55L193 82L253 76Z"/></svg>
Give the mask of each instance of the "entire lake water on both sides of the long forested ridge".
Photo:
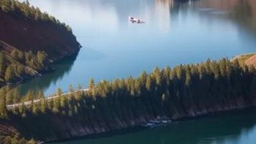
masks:
<svg viewBox="0 0 256 144"><path fill-rule="evenodd" d="M256 50L254 0L29 2L68 23L83 48L78 56L53 64L55 72L18 86L22 93L42 89L49 95L58 87L67 91L69 84L86 87L91 77L97 82L136 77L156 66L232 58ZM129 23L129 16L146 23ZM206 118L74 143L253 143L256 118L249 118Z"/></svg>

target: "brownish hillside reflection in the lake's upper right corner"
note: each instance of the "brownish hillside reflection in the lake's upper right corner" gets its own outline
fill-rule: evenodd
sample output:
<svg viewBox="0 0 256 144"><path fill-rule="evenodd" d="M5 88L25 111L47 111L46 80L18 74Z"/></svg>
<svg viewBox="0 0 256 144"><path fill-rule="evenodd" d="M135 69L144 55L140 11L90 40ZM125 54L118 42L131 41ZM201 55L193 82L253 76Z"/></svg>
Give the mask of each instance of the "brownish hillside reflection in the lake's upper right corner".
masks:
<svg viewBox="0 0 256 144"><path fill-rule="evenodd" d="M157 1L164 2L165 0ZM256 37L256 3L254 0L177 0L173 1L170 12L172 19L178 18L177 15L181 12L183 15L197 12L200 18L208 23L214 22L214 18L222 20L222 23L230 21L236 26L238 37L246 43L244 47L255 50L253 45L255 45Z"/></svg>

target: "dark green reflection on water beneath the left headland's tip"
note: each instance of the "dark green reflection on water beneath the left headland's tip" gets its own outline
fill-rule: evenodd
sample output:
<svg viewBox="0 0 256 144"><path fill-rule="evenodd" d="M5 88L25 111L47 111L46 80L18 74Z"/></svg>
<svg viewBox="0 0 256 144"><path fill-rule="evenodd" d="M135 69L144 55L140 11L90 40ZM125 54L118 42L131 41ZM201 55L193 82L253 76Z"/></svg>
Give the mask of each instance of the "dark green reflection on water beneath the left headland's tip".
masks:
<svg viewBox="0 0 256 144"><path fill-rule="evenodd" d="M62 61L56 62L52 64L50 67L55 67L56 70L54 72L49 72L42 77L37 77L32 80L27 81L26 83L21 84L17 88L20 91L20 94L26 94L27 91L44 91L48 88L52 83L56 83L58 80L62 79L64 75L66 75L71 69L77 58L78 53L74 56L70 56L69 58L65 58ZM67 83L68 84L68 83ZM53 91L54 92L54 91Z"/></svg>

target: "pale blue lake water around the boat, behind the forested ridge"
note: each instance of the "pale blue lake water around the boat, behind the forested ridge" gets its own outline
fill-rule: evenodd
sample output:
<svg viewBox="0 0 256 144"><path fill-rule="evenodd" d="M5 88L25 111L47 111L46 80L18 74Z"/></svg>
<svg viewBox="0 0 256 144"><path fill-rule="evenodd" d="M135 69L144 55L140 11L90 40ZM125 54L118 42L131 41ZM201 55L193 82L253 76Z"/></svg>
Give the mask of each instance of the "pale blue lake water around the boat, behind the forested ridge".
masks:
<svg viewBox="0 0 256 144"><path fill-rule="evenodd" d="M116 77L137 76L141 71L151 71L155 66L173 67L176 64L195 63L207 58L217 59L249 53L254 51L252 48L256 45L255 37L244 29L237 30L243 24L235 21L240 19L238 21L244 22L244 26L248 25L249 28L256 26L251 23L256 18L256 15L253 16L256 10L253 0L31 0L31 3L70 23L78 41L82 45L88 45L91 52L79 54L77 62L71 66L72 69L69 64L62 64L64 66L60 66L60 73L54 72L24 83L19 87L21 91L42 89L45 93L52 94L58 87L67 91L70 83L86 86L89 77L94 77L95 80L112 80ZM55 8L56 5L62 7ZM237 6L240 8L236 8ZM74 11L64 15L67 7ZM80 18L81 13L84 18ZM244 17L247 13L251 14ZM129 15L145 18L145 25L127 26ZM80 23L73 23L77 20ZM102 58L106 61L100 61ZM119 69L123 66L127 69ZM67 72L64 72L65 69ZM101 69L105 69L104 72Z"/></svg>

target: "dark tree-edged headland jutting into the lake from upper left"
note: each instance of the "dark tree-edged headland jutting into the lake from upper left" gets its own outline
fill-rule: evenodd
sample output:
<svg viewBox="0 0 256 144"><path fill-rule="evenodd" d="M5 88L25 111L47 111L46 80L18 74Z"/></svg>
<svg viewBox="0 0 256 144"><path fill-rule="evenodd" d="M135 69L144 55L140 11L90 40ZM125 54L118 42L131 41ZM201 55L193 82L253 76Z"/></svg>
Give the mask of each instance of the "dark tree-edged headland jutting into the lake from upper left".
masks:
<svg viewBox="0 0 256 144"><path fill-rule="evenodd" d="M1 86L37 76L80 48L69 26L28 1L0 1L0 31Z"/></svg>

